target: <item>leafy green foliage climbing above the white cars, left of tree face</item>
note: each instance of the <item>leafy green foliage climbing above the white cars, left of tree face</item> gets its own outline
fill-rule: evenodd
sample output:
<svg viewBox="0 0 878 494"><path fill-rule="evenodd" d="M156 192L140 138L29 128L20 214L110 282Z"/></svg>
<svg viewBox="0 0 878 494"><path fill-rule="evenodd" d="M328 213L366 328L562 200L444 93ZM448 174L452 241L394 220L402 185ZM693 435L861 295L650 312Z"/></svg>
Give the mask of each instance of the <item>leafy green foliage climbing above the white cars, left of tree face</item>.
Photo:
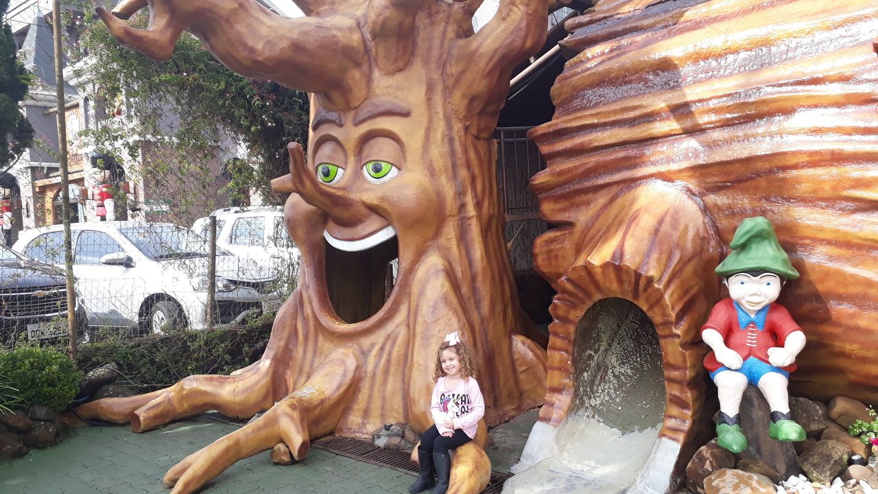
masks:
<svg viewBox="0 0 878 494"><path fill-rule="evenodd" d="M155 63L120 45L97 18L74 22L82 23L77 75L93 81L92 97L106 108L103 125L98 122L83 133L97 149L112 151L124 143L133 157L140 152L139 139L162 135L175 157L157 166L151 163L148 172L191 176L219 145L231 140L247 156L225 163L232 181L229 195L234 199L256 188L279 200L270 194L269 182L288 172L286 144L306 144L306 93L235 74L188 33L167 62ZM138 22L145 25L146 16ZM120 110L123 105L126 112Z"/></svg>

